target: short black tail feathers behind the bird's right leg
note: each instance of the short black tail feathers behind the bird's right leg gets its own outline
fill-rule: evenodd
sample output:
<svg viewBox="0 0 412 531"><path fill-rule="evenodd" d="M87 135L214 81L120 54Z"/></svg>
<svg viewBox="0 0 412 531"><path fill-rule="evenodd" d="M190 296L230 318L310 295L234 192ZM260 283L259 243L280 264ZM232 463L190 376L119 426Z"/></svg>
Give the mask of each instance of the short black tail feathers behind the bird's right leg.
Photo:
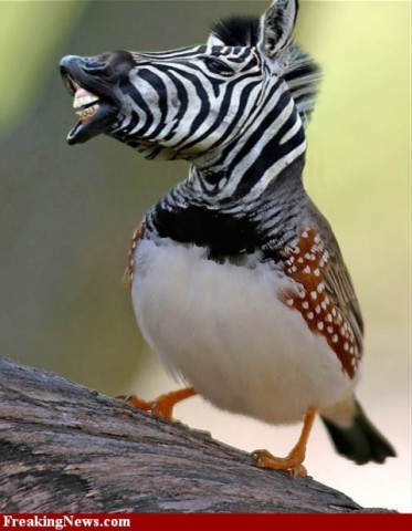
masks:
<svg viewBox="0 0 412 531"><path fill-rule="evenodd" d="M353 423L349 428L342 428L329 418L321 419L338 454L357 465L369 461L382 464L387 457L397 456L392 445L372 425L358 402Z"/></svg>

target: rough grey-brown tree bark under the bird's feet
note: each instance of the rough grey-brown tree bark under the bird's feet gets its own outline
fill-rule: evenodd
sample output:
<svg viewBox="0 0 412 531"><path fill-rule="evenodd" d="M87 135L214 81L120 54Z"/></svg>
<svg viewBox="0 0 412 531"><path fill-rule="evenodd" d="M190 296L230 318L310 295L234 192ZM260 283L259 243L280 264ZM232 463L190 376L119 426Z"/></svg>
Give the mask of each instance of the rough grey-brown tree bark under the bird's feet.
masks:
<svg viewBox="0 0 412 531"><path fill-rule="evenodd" d="M0 512L363 512L310 477L257 469L205 433L4 358L0 399Z"/></svg>

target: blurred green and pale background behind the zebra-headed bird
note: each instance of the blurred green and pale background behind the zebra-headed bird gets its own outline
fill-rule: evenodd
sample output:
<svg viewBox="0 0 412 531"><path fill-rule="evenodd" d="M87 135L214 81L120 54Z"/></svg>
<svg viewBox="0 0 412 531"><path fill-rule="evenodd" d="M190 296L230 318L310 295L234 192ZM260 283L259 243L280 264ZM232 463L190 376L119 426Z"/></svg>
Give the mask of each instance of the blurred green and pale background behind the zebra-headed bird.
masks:
<svg viewBox="0 0 412 531"><path fill-rule="evenodd" d="M411 7L300 3L297 40L325 75L305 183L334 227L363 310L359 396L400 454L384 467L359 468L336 457L317 426L309 472L369 507L410 511ZM76 118L57 64L68 53L201 43L214 20L267 6L0 2L1 355L110 395L149 397L173 385L141 340L122 277L135 226L187 164L146 162L103 136L68 147ZM245 449L287 451L299 429L262 427L199 398L180 412Z"/></svg>

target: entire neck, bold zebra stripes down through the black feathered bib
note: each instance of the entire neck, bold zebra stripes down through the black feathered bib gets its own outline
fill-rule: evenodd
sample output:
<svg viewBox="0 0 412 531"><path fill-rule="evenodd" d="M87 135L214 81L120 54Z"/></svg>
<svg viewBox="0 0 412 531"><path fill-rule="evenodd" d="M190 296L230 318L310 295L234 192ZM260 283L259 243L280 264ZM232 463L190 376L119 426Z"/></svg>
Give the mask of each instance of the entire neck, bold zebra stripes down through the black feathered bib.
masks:
<svg viewBox="0 0 412 531"><path fill-rule="evenodd" d="M189 177L147 217L148 233L207 249L215 261L279 260L308 197L306 140L283 81L268 86L235 140L192 159Z"/></svg>

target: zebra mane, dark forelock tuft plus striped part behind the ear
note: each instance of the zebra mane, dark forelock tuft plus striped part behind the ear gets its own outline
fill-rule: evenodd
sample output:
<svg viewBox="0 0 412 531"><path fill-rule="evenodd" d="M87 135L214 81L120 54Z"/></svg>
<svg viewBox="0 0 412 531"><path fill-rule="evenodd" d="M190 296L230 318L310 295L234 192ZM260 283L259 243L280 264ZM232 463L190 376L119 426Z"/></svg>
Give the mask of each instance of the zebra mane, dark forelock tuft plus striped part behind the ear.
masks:
<svg viewBox="0 0 412 531"><path fill-rule="evenodd" d="M212 34L226 46L257 46L261 40L258 17L232 17L212 27ZM321 77L319 66L300 46L289 42L276 56L284 77L306 128L315 107Z"/></svg>

